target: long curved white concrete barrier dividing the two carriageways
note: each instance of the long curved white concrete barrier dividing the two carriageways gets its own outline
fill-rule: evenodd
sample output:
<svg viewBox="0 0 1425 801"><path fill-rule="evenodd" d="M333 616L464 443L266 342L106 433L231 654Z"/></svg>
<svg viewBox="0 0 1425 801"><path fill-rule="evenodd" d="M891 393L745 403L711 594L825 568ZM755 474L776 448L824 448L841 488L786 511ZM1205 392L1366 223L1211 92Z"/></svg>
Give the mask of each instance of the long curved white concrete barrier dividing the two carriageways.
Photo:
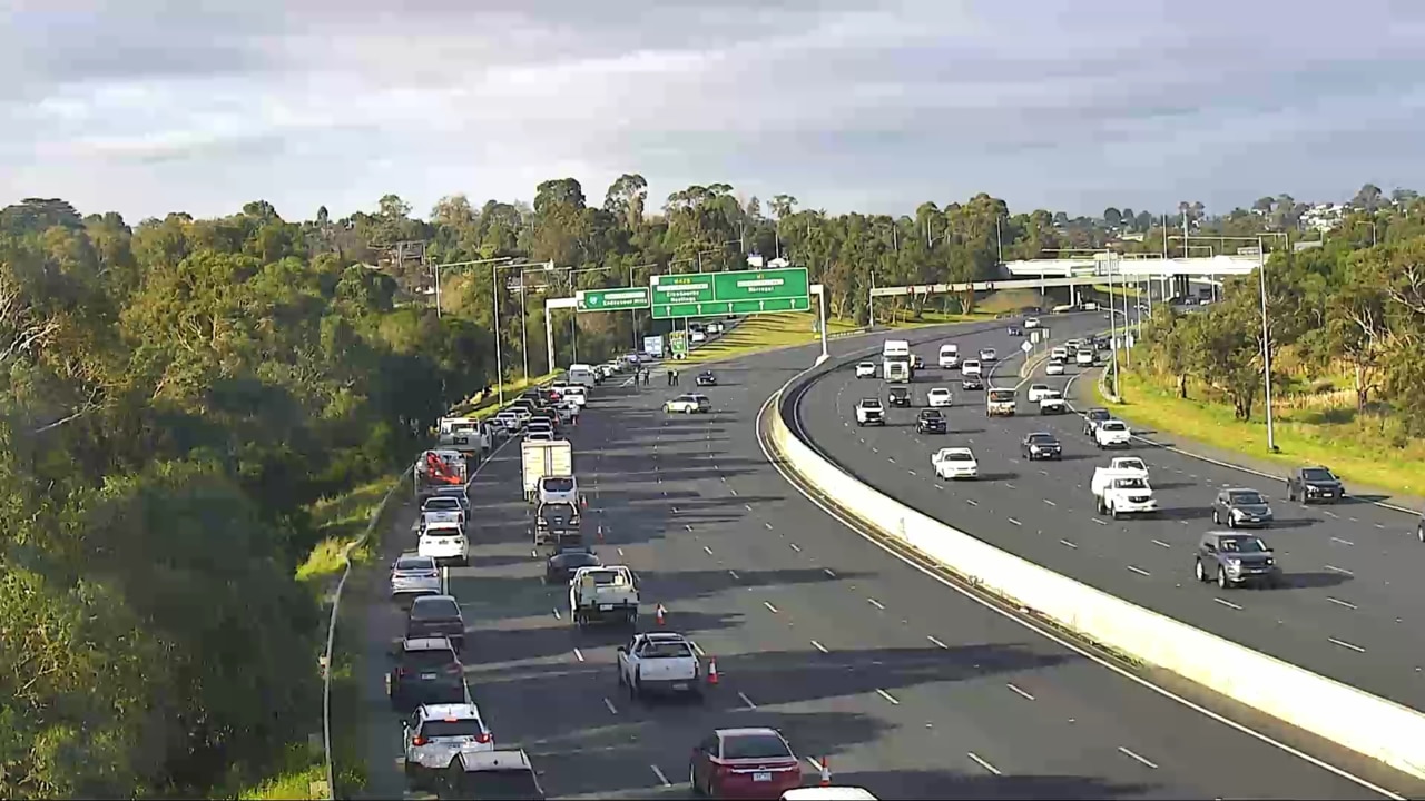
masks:
<svg viewBox="0 0 1425 801"><path fill-rule="evenodd" d="M826 369L791 383L804 385ZM784 466L882 534L1094 643L1425 778L1421 713L1096 590L922 515L817 453L787 425L785 415L795 409L782 408L781 393L772 403L768 436Z"/></svg>

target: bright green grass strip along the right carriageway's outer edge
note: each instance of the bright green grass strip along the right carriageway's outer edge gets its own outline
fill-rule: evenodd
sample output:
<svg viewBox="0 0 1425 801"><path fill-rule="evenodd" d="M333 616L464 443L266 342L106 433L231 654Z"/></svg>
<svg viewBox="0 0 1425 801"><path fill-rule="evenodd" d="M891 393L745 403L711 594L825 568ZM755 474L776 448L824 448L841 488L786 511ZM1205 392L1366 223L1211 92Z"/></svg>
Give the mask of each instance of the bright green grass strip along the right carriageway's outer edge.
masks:
<svg viewBox="0 0 1425 801"><path fill-rule="evenodd" d="M1274 405L1273 422L1281 453L1268 453L1267 423L1237 420L1231 406L1183 400L1153 379L1129 371L1119 378L1119 392L1126 402L1116 409L1141 426L1277 465L1282 473L1304 463L1325 465L1347 482L1391 493L1425 495L1425 443L1385 445L1379 440L1382 432L1372 432L1378 426L1369 422L1307 422L1301 418L1315 420L1320 413ZM1094 396L1106 402L1097 386Z"/></svg>

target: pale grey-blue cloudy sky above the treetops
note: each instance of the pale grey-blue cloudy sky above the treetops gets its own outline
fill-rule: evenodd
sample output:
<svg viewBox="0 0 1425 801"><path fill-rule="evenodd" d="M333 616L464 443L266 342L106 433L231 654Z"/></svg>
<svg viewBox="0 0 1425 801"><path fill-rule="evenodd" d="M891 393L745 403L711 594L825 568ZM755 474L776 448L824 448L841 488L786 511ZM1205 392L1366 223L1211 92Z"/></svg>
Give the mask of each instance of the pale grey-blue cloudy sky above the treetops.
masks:
<svg viewBox="0 0 1425 801"><path fill-rule="evenodd" d="M0 202L909 211L1425 190L1425 0L4 0Z"/></svg>

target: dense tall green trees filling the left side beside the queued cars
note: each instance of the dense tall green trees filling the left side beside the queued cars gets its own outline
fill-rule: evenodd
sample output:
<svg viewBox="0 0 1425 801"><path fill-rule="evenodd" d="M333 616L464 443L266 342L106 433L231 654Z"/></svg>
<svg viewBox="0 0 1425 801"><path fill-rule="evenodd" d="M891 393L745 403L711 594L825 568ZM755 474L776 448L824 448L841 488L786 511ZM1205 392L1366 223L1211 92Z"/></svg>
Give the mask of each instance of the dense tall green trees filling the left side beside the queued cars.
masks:
<svg viewBox="0 0 1425 801"><path fill-rule="evenodd" d="M0 797L198 797L321 708L295 567L492 342L249 204L0 211Z"/></svg>

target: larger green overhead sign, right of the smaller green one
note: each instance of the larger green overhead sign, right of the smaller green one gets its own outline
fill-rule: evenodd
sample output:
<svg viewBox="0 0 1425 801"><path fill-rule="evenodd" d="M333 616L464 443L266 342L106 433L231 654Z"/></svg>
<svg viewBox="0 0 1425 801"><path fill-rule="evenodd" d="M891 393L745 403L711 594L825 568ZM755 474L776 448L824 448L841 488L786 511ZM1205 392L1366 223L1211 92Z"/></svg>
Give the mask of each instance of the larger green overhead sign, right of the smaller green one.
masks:
<svg viewBox="0 0 1425 801"><path fill-rule="evenodd" d="M654 275L653 318L811 311L805 267Z"/></svg>

